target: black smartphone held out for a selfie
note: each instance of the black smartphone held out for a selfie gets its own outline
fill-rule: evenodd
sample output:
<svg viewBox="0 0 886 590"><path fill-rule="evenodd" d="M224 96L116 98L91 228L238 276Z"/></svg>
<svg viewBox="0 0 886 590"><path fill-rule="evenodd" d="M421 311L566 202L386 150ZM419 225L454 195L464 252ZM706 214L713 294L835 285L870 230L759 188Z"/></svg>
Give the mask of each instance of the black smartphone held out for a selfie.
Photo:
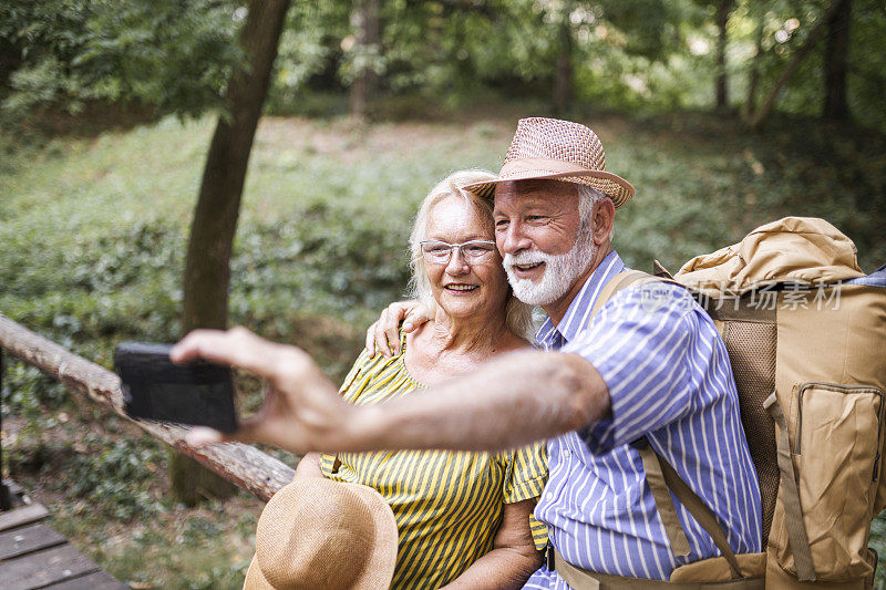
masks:
<svg viewBox="0 0 886 590"><path fill-rule="evenodd" d="M122 342L114 350L126 414L131 417L237 429L229 366L207 361L174 364L172 344Z"/></svg>

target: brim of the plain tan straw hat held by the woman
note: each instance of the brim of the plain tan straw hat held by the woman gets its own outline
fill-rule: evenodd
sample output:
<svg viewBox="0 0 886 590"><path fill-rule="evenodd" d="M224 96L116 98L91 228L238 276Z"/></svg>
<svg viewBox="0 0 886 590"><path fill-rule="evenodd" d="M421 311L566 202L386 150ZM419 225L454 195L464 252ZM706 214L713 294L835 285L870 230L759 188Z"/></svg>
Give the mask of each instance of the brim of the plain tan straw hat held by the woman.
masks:
<svg viewBox="0 0 886 590"><path fill-rule="evenodd" d="M361 484L338 483L330 482L329 479L296 479L281 488L280 491L298 496L299 494L306 494L308 491L317 491L315 489L317 485L329 484L348 486L356 493L365 504L367 508L369 508L369 513L375 525L375 537L373 539L374 550L370 555L360 578L351 588L357 590L388 588L394 577L394 569L396 567L400 532L396 528L394 514L381 494ZM280 491L278 491L278 494ZM253 561L249 563L243 588L244 590L277 590L262 573L261 565L258 562L258 556L254 556Z"/></svg>

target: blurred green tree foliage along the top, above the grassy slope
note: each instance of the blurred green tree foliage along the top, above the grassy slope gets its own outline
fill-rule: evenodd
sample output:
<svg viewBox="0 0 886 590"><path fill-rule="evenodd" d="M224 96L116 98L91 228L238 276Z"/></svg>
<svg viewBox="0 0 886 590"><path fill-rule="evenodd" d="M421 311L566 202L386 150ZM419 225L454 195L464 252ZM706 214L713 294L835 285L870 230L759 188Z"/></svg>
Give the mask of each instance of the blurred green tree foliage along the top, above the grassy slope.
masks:
<svg viewBox="0 0 886 590"><path fill-rule="evenodd" d="M461 111L477 99L533 97L552 105L557 60L568 51L574 106L661 112L713 104L720 2L711 0L391 0L380 3L379 44L357 43L351 2L293 2L267 108L277 114L348 112L358 72L380 79L377 117ZM732 106L775 84L826 0L735 0L728 25ZM0 100L4 122L29 108L78 113L94 102L150 105L157 115L222 107L244 55L237 30L246 8L229 0L9 0L0 4ZM759 27L763 53L754 60ZM886 12L852 4L848 100L856 122L886 128ZM824 97L821 40L777 103L818 116ZM11 74L11 75L10 75Z"/></svg>

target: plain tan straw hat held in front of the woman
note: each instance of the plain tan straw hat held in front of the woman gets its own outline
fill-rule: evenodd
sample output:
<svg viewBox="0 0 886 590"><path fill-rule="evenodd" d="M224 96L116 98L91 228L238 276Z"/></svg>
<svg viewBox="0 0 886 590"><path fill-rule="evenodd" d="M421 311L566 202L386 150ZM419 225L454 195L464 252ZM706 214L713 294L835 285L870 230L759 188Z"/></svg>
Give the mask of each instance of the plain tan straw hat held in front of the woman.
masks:
<svg viewBox="0 0 886 590"><path fill-rule="evenodd" d="M394 515L374 489L296 479L261 511L244 590L388 588L396 544Z"/></svg>

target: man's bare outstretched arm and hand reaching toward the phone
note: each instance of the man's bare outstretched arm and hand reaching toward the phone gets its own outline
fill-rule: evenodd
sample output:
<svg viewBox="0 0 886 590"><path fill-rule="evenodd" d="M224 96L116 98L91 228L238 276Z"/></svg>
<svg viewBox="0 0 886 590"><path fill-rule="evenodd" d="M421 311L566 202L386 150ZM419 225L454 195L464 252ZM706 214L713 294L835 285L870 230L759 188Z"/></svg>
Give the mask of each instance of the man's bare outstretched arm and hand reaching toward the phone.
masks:
<svg viewBox="0 0 886 590"><path fill-rule="evenodd" d="M243 328L196 330L171 354L203 358L268 380L255 416L230 437L194 431L195 444L268 443L293 453L380 448L513 448L606 416L609 395L594 366L575 354L516 351L473 373L403 398L357 406L301 349L275 344Z"/></svg>

